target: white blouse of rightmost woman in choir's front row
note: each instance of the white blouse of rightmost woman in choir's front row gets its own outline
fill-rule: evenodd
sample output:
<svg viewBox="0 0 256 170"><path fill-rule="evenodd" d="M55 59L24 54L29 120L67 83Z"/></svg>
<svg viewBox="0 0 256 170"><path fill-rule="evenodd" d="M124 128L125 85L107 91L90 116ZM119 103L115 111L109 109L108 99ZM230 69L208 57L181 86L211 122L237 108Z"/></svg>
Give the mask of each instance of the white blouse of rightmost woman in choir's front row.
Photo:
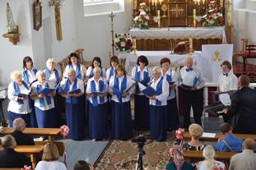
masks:
<svg viewBox="0 0 256 170"><path fill-rule="evenodd" d="M154 79L151 80L151 87L156 90L156 87L159 83L159 81L161 80L161 77L159 77L158 80L156 80L154 82ZM169 95L169 83L166 79L163 79L163 83L162 83L162 93L159 95L156 95L156 99L161 101L161 106L165 106L167 105L167 97ZM154 105L156 106L156 99L149 99L149 104L150 105Z"/></svg>

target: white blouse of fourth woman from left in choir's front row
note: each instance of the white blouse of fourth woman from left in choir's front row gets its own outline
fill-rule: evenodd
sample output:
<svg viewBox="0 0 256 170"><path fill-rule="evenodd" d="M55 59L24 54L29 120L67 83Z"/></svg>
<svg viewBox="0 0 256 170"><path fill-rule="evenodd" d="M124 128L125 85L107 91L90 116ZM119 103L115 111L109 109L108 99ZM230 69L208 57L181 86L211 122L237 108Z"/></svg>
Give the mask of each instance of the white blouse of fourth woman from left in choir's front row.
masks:
<svg viewBox="0 0 256 170"><path fill-rule="evenodd" d="M106 85L105 90L106 90L106 92L108 91L108 83L103 77L100 77L100 79L98 81L96 81L94 77L91 77L91 79L89 79L88 83L87 83L86 93L91 93L91 81L92 80L95 81L95 90L96 90L96 92L100 92L100 84L99 84L100 80L104 81L104 85ZM92 103L92 97L87 96L87 99L89 99L90 103ZM97 96L97 100L98 100L98 103L100 103L100 96ZM107 101L108 101L108 97L105 96L104 103L106 103Z"/></svg>

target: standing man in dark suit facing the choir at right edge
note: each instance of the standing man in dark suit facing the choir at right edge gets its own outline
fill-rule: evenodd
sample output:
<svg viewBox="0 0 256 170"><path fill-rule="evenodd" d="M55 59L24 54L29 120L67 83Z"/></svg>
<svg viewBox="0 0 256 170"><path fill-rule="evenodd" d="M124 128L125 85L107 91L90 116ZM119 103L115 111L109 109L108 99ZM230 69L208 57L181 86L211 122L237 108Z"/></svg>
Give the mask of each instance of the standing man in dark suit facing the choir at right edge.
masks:
<svg viewBox="0 0 256 170"><path fill-rule="evenodd" d="M256 90L249 88L249 77L244 75L239 77L237 86L239 90L223 113L231 117L235 133L256 134Z"/></svg>

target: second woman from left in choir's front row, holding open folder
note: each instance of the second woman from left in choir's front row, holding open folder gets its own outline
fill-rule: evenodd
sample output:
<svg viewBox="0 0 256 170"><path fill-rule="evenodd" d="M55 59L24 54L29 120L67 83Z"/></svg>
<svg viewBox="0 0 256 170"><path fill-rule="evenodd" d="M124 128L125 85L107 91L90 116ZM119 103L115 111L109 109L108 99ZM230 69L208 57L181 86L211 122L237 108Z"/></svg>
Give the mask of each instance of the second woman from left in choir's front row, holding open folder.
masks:
<svg viewBox="0 0 256 170"><path fill-rule="evenodd" d="M55 91L49 94L41 93L45 88L53 89L54 85L45 78L44 71L37 71L36 81L32 85L31 99L35 100L35 116L40 128L54 127L54 96Z"/></svg>

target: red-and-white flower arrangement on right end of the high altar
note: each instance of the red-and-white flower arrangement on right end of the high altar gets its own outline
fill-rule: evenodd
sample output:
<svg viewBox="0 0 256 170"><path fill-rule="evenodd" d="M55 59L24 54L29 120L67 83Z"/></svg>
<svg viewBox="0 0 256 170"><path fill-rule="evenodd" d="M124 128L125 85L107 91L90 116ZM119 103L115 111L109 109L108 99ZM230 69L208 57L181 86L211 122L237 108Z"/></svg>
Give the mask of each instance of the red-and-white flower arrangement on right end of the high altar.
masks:
<svg viewBox="0 0 256 170"><path fill-rule="evenodd" d="M224 17L222 16L219 4L216 0L210 0L207 13L202 16L202 26L222 26Z"/></svg>

